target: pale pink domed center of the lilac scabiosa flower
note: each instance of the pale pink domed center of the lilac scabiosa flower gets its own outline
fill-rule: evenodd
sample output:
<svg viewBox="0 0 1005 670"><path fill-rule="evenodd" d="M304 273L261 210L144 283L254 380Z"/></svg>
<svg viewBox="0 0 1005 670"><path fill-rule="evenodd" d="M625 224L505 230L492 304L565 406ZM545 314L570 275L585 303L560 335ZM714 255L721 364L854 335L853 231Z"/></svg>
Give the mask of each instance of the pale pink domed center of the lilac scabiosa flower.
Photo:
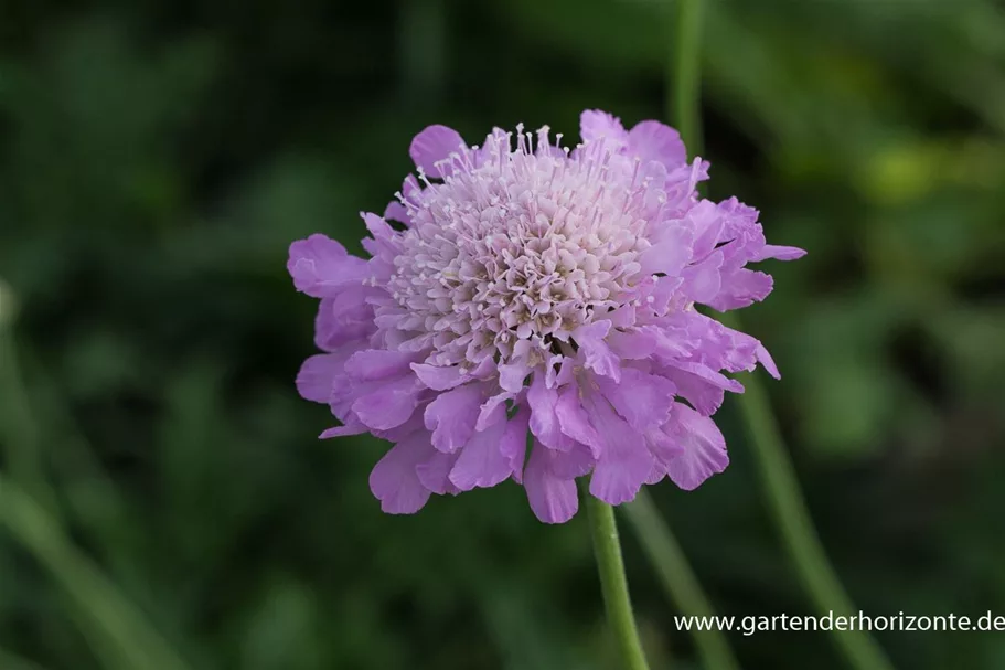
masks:
<svg viewBox="0 0 1005 670"><path fill-rule="evenodd" d="M430 362L517 358L535 366L570 353L570 334L622 305L650 247L651 191L639 161L581 146L571 156L538 131L445 161L442 183L403 202L411 227L387 285L397 328L427 333ZM430 341L431 340L431 341Z"/></svg>

